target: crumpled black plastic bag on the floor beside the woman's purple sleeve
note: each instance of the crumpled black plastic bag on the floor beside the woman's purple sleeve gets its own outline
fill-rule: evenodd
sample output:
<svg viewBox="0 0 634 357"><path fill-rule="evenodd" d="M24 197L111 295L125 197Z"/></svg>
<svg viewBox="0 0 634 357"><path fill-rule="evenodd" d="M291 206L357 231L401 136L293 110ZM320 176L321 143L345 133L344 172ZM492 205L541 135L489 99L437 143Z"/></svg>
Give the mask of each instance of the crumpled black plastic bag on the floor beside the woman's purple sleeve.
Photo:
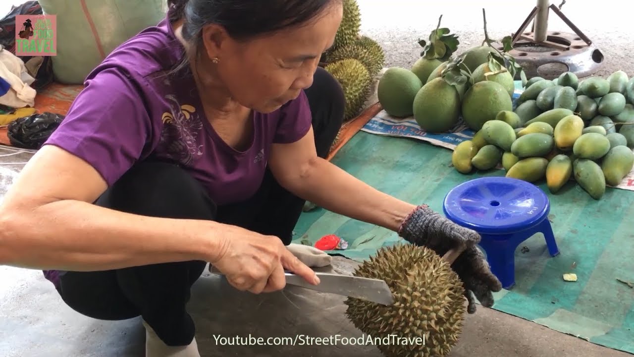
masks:
<svg viewBox="0 0 634 357"><path fill-rule="evenodd" d="M39 149L64 118L60 114L43 112L15 119L7 127L9 142L22 149Z"/></svg>

